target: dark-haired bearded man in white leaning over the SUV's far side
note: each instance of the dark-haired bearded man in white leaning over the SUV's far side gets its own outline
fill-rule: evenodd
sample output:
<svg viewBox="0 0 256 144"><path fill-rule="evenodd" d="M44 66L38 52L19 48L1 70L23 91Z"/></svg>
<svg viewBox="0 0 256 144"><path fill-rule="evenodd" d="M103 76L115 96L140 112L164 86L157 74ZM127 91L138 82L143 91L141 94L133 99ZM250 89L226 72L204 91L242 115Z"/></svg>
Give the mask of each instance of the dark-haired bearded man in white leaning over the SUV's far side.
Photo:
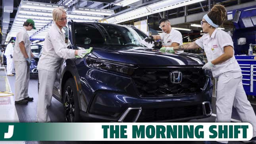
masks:
<svg viewBox="0 0 256 144"><path fill-rule="evenodd" d="M155 47L154 48L162 48L164 47L174 47L182 45L182 35L181 32L177 31L176 29L173 29L171 27L171 23L168 19L163 18L159 21L159 27L162 29L163 33L160 35L152 35L149 38L146 38L145 41L148 43L154 42L154 40L161 40L162 44L158 42L154 42Z"/></svg>

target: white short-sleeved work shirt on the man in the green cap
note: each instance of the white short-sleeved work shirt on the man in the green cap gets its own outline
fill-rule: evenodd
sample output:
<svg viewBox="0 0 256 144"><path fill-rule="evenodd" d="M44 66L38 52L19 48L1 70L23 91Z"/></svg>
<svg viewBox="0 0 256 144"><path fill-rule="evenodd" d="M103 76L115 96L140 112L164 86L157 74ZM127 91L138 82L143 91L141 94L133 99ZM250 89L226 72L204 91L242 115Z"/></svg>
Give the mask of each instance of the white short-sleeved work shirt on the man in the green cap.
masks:
<svg viewBox="0 0 256 144"><path fill-rule="evenodd" d="M14 61L26 61L24 55L21 53L21 49L19 47L20 42L24 42L25 49L29 59L31 58L31 48L30 48L30 38L29 34L27 34L27 30L25 27L22 27L16 35L16 40L14 44L14 52L13 52L13 60Z"/></svg>

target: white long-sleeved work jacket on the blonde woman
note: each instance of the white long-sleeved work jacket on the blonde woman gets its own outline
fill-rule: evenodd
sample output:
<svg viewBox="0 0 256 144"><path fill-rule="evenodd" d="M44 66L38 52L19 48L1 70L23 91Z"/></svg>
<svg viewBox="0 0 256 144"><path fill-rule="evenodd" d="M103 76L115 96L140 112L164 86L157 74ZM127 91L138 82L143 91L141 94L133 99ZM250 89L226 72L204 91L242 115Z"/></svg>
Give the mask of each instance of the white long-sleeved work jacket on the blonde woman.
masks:
<svg viewBox="0 0 256 144"><path fill-rule="evenodd" d="M67 49L66 46L64 33L56 24L52 25L45 37L37 68L56 72L63 58L75 58L75 50Z"/></svg>

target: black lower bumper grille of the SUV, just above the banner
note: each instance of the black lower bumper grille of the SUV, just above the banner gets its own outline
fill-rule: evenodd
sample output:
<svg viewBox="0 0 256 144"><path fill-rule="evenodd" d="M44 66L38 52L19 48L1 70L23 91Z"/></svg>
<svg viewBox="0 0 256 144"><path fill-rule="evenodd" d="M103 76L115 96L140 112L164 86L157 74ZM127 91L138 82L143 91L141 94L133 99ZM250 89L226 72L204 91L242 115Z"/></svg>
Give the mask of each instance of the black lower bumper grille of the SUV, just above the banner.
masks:
<svg viewBox="0 0 256 144"><path fill-rule="evenodd" d="M142 108L141 115L137 122L164 121L173 119L182 119L203 115L202 104L193 106L182 106L173 108Z"/></svg>

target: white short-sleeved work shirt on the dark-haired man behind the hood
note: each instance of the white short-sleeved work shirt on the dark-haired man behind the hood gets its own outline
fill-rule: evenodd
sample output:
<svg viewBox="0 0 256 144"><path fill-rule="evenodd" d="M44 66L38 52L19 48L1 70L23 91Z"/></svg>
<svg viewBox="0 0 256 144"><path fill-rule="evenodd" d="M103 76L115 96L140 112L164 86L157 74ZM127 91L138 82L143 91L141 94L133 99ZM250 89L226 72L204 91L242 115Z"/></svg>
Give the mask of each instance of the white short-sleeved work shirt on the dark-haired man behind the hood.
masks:
<svg viewBox="0 0 256 144"><path fill-rule="evenodd" d="M170 46L171 43L176 42L179 45L182 45L182 35L181 32L176 29L171 28L170 33L161 33L160 34L162 45Z"/></svg>

